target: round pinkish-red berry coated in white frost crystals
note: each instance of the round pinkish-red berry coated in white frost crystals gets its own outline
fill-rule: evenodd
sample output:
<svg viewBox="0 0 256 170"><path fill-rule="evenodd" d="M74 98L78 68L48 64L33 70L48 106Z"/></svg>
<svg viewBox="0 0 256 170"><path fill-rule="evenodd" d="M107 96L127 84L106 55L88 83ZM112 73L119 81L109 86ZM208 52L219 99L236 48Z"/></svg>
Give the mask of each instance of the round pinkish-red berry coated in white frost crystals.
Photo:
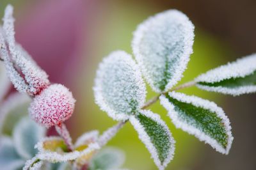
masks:
<svg viewBox="0 0 256 170"><path fill-rule="evenodd" d="M75 102L65 86L52 84L35 96L29 107L29 115L45 127L60 125L72 115Z"/></svg>

